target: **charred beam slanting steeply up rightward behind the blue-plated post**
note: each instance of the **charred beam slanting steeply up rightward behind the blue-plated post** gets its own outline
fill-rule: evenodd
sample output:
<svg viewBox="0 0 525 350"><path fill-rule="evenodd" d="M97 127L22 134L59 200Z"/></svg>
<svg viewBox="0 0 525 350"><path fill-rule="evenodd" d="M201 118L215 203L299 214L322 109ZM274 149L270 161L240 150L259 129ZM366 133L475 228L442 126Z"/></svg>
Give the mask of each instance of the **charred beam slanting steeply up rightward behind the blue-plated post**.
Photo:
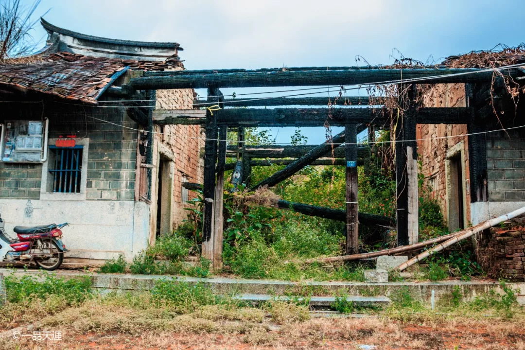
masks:
<svg viewBox="0 0 525 350"><path fill-rule="evenodd" d="M333 150L336 147L339 147L343 142L344 142L344 132L341 132L333 136L330 140L324 142L323 144L317 147L314 147L310 152L298 158L298 160L296 160L292 164L287 165L281 171L278 171L274 175L259 182L257 185L251 188L251 190L256 190L257 188L260 188L262 186L271 187L271 186L277 185L281 181L287 179L288 177L300 171L305 166L315 161L317 158L327 154L328 152L330 152L330 150ZM355 158L357 160L357 153L355 154Z"/></svg>

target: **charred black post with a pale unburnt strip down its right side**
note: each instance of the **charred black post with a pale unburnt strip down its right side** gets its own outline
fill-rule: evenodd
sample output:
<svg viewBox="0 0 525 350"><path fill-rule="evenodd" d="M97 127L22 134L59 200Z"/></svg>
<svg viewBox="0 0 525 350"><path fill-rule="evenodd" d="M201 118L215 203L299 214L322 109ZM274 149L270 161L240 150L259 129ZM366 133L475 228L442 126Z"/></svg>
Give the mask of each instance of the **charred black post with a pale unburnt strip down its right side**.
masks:
<svg viewBox="0 0 525 350"><path fill-rule="evenodd" d="M400 88L401 89L401 88ZM395 130L395 167L397 194L397 245L406 246L418 240L416 89L408 87Z"/></svg>

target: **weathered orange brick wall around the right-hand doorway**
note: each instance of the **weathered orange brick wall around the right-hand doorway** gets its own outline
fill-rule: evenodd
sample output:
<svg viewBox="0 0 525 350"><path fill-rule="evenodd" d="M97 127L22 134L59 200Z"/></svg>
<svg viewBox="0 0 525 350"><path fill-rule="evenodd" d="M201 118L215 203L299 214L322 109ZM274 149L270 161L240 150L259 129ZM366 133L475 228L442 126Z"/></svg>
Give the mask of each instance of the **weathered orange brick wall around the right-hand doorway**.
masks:
<svg viewBox="0 0 525 350"><path fill-rule="evenodd" d="M438 84L429 91L423 101L425 107L465 107L465 87L463 84ZM447 219L446 172L447 152L456 144L463 142L465 154L465 176L468 183L468 142L466 136L448 137L467 133L466 124L417 124L416 138L418 159L422 162L421 171L425 184L430 185L430 196L436 198ZM467 186L467 190L469 190ZM470 218L470 200L466 203L467 220Z"/></svg>

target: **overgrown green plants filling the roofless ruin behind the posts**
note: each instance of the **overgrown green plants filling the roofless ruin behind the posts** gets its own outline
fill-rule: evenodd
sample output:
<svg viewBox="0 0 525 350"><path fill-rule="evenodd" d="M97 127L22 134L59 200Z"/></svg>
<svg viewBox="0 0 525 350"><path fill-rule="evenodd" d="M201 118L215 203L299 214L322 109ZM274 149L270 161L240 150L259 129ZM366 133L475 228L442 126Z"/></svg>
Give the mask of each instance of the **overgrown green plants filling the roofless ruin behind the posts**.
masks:
<svg viewBox="0 0 525 350"><path fill-rule="evenodd" d="M233 141L237 136L229 133L228 137ZM382 132L378 141L389 138L388 132ZM248 144L272 143L267 130L247 129L246 141ZM306 137L297 129L291 141L303 144ZM364 167L359 167L360 211L395 217L396 189L391 156L386 144L374 146L367 173ZM421 168L421 163L419 166ZM282 167L254 167L250 181L257 183ZM230 172L226 173L226 178L229 178ZM430 189L425 187L421 171L419 173L419 222L423 240L447 234L448 231L443 225L439 204L430 195ZM203 195L201 191L192 193L195 197L188 201L185 208L188 218L184 225L172 235L160 237L153 247L134 257L129 266L132 273L209 275L209 262L197 260L202 243ZM271 190L264 188L256 192L248 192L244 185L239 185L234 191L233 186L227 183L224 192L224 270L219 273L253 279L363 281L364 266L359 263L304 263L306 259L343 253L344 223L277 209L275 204L279 198L344 209L345 169L338 166L307 166ZM395 232L388 228L360 226L362 251L388 248L394 241ZM188 257L197 260L195 266L184 261ZM481 272L473 258L468 249L442 252L432 258L428 268L422 269L422 275L432 281L443 280L450 275L470 279ZM126 268L122 262L110 261L101 271L122 271ZM391 278L402 280L398 274Z"/></svg>

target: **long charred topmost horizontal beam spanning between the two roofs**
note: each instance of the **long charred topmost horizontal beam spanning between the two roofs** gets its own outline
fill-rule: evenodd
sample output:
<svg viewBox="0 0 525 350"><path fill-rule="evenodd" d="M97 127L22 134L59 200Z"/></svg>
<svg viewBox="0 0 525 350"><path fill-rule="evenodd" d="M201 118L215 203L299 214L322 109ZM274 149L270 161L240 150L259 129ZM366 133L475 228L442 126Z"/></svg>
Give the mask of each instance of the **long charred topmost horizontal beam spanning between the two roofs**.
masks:
<svg viewBox="0 0 525 350"><path fill-rule="evenodd" d="M523 76L518 69L501 70L503 75ZM388 81L419 79L419 84L468 83L490 81L492 71L476 68L436 69L349 69L297 71L245 71L233 73L170 72L166 76L132 78L129 84L137 90L202 89L209 84L222 88L251 88L279 86L340 86L381 84ZM458 73L470 73L455 75Z"/></svg>

